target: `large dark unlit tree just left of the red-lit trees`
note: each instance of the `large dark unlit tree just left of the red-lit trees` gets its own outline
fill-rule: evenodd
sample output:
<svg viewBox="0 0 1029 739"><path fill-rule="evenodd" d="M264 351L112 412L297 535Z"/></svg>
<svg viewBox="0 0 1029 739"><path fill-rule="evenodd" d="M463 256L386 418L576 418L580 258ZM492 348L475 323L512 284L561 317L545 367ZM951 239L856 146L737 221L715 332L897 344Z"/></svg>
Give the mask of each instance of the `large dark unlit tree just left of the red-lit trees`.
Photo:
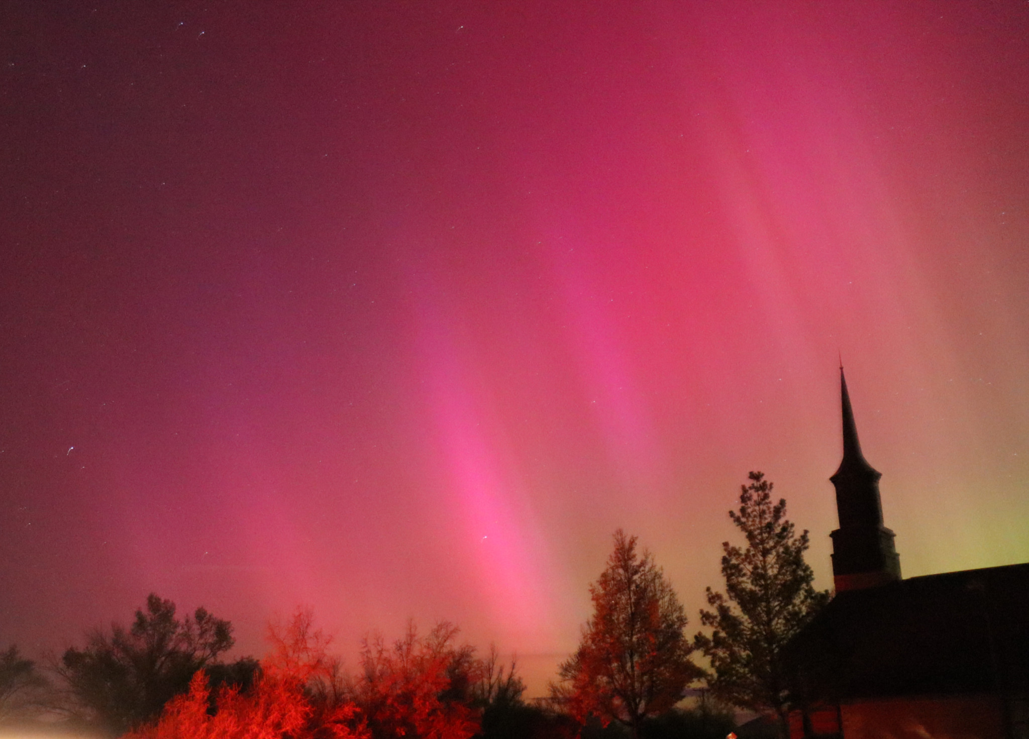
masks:
<svg viewBox="0 0 1029 739"><path fill-rule="evenodd" d="M58 666L86 720L120 735L154 718L193 674L233 646L233 627L204 608L175 618L175 603L151 593L130 629L99 629Z"/></svg>

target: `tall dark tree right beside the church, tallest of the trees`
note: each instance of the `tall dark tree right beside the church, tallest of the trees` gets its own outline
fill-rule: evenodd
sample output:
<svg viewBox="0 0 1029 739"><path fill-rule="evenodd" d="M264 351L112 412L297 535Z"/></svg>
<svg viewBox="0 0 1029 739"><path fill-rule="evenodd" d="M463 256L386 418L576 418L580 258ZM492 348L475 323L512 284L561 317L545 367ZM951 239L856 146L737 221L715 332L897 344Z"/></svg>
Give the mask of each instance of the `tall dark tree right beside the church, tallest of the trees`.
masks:
<svg viewBox="0 0 1029 739"><path fill-rule="evenodd" d="M711 661L712 692L722 700L756 711L774 711L787 729L786 672L782 649L828 601L816 591L814 572L804 561L808 532L795 534L786 519L786 501L772 503L772 483L750 472L741 486L740 509L729 517L747 540L746 549L722 543L725 593L707 589L714 610L701 610L710 636L694 643ZM784 734L785 736L785 734Z"/></svg>

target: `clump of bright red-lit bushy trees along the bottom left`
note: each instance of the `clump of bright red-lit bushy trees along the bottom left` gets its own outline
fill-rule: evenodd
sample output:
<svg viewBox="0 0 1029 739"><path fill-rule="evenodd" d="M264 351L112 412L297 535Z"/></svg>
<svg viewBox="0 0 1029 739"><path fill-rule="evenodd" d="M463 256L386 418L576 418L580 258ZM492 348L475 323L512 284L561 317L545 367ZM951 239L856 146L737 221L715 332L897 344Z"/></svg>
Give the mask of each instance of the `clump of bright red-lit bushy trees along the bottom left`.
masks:
<svg viewBox="0 0 1029 739"><path fill-rule="evenodd" d="M326 655L328 639L301 611L270 630L273 648L250 690L212 692L199 673L129 739L470 739L484 663L455 643L457 633L441 623L424 637L412 625L392 647L366 639L361 675L348 685ZM517 687L509 674L506 684Z"/></svg>

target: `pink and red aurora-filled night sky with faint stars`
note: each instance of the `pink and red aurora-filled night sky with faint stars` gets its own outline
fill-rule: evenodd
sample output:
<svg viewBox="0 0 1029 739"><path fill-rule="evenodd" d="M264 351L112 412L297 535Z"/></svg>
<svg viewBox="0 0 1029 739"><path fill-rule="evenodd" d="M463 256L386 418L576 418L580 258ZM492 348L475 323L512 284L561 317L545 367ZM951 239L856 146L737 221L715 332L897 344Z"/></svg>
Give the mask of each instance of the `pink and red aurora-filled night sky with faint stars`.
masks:
<svg viewBox="0 0 1029 739"><path fill-rule="evenodd" d="M831 584L1029 560L1024 2L0 4L0 646L155 591L531 694L750 469Z"/></svg>

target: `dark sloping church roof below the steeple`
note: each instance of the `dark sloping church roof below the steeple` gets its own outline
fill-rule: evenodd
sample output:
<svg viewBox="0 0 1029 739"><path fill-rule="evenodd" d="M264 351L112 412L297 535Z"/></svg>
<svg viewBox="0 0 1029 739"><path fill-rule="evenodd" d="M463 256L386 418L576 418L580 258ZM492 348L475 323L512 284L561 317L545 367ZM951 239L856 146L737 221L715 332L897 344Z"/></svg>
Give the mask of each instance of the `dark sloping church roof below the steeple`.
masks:
<svg viewBox="0 0 1029 739"><path fill-rule="evenodd" d="M839 593L786 662L808 700L1025 691L1029 564Z"/></svg>

